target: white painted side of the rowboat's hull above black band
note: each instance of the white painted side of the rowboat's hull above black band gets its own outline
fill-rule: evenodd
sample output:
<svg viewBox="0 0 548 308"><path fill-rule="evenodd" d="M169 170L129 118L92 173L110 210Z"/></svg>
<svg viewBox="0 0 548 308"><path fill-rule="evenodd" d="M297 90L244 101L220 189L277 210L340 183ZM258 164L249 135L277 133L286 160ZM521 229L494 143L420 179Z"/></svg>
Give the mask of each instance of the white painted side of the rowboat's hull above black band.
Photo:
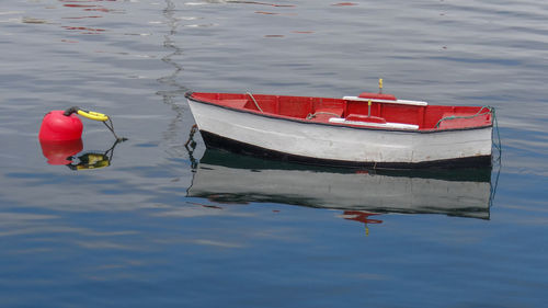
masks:
<svg viewBox="0 0 548 308"><path fill-rule="evenodd" d="M390 130L279 119L189 100L201 132L296 157L356 163L424 163L491 156L492 127Z"/></svg>

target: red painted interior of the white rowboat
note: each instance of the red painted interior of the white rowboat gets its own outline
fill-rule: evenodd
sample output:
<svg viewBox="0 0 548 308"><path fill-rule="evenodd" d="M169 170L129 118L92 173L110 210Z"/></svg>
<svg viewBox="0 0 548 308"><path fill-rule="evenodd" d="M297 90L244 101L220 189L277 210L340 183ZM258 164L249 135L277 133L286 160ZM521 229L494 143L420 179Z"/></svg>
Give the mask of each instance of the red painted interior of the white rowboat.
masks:
<svg viewBox="0 0 548 308"><path fill-rule="evenodd" d="M393 98L390 94L381 95L384 95L381 100ZM424 130L492 124L492 114L489 109L481 106L407 105L375 102L373 98L369 109L368 102L343 99L197 92L194 92L192 98L230 109L320 123L329 123L330 118L339 117L361 123L411 124ZM396 98L393 101L397 102Z"/></svg>

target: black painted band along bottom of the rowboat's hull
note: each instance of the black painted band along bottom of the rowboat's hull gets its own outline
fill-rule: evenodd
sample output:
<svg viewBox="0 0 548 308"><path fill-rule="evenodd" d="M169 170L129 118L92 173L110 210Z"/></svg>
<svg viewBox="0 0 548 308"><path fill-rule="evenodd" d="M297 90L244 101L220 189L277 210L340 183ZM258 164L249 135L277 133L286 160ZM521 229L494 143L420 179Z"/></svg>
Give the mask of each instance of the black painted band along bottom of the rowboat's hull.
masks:
<svg viewBox="0 0 548 308"><path fill-rule="evenodd" d="M228 150L240 155L251 155L254 157L282 160L305 164L347 167L347 168L370 168L370 169L456 169L456 168L484 168L491 166L491 156L477 156L457 159L424 161L424 162L355 162L345 160L332 160L295 156L281 151L270 150L262 147L244 144L238 140L226 138L217 134L199 130L202 138L208 149Z"/></svg>

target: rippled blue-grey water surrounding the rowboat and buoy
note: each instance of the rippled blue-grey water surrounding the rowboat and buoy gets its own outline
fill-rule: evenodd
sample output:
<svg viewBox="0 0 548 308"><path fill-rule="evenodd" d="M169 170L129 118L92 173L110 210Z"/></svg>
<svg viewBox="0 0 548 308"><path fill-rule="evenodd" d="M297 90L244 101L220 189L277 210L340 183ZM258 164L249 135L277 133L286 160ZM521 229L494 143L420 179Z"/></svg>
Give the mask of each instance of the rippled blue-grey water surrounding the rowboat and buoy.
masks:
<svg viewBox="0 0 548 308"><path fill-rule="evenodd" d="M545 307L548 2L18 0L0 7L1 307ZM491 170L205 150L187 90L492 105ZM72 105L76 166L37 132ZM68 162L67 162L68 163Z"/></svg>

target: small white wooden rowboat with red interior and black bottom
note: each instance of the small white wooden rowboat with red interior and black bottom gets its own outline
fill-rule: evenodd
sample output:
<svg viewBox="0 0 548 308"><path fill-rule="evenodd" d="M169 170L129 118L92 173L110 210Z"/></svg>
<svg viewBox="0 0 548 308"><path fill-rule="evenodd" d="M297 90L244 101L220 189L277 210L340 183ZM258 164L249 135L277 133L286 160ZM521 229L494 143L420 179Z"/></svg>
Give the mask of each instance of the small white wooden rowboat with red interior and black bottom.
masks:
<svg viewBox="0 0 548 308"><path fill-rule="evenodd" d="M342 99L185 94L207 148L369 168L491 164L494 109L430 105L364 92Z"/></svg>

